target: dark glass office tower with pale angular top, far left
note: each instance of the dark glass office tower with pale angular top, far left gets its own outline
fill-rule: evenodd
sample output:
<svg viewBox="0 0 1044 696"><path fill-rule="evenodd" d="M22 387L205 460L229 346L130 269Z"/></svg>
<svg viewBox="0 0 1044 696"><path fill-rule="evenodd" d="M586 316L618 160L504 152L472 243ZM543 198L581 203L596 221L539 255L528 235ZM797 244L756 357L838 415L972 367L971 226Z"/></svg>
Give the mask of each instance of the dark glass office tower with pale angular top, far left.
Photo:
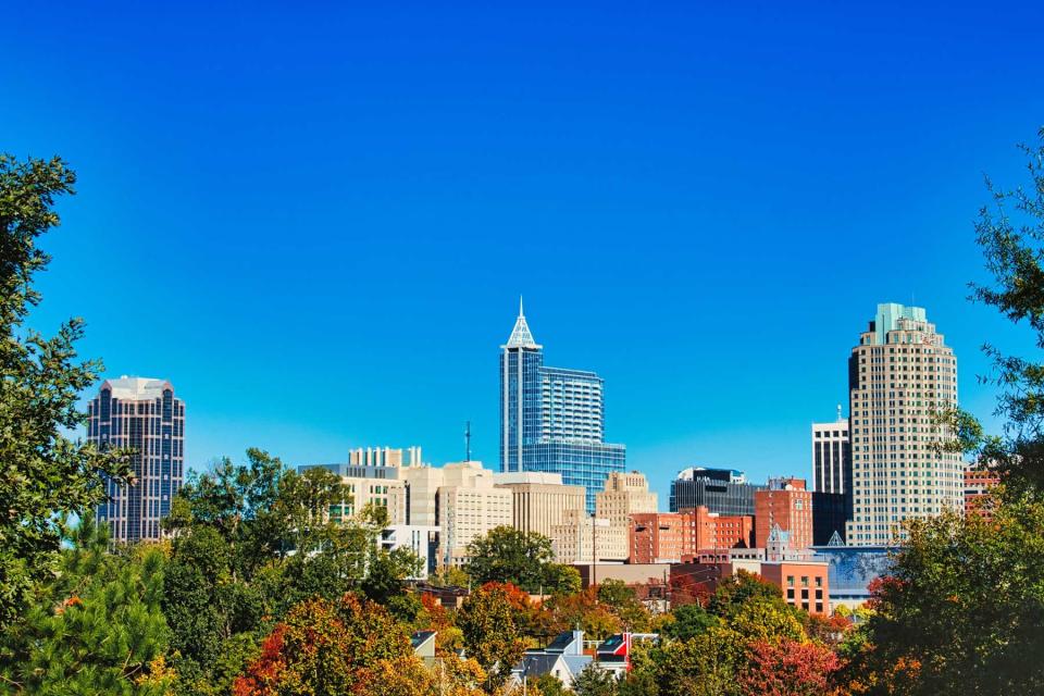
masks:
<svg viewBox="0 0 1044 696"><path fill-rule="evenodd" d="M132 450L133 486L105 481L98 507L113 542L159 539L160 520L185 480L185 402L165 380L122 376L102 383L87 406L87 439L99 449Z"/></svg>

